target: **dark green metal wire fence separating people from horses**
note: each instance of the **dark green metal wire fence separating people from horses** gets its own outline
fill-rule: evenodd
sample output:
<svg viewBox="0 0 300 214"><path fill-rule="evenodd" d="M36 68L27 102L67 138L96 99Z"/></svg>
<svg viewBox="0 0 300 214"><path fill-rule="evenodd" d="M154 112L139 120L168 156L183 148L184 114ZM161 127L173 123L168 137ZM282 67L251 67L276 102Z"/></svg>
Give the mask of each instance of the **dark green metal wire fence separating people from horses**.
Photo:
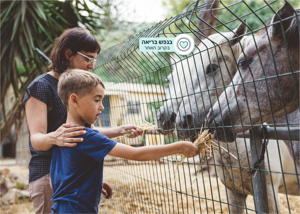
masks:
<svg viewBox="0 0 300 214"><path fill-rule="evenodd" d="M194 2L97 57L94 72L105 81L97 125L139 120L161 128L115 140L136 147L194 141L203 126L219 145L202 164L199 156L178 168L167 158L107 156L113 198L102 198L99 212L299 213L299 10L279 1L220 1L211 9L214 3ZM213 10L215 27L200 18ZM215 34L206 36L208 29ZM181 33L205 39L185 56L139 51L140 37Z"/></svg>

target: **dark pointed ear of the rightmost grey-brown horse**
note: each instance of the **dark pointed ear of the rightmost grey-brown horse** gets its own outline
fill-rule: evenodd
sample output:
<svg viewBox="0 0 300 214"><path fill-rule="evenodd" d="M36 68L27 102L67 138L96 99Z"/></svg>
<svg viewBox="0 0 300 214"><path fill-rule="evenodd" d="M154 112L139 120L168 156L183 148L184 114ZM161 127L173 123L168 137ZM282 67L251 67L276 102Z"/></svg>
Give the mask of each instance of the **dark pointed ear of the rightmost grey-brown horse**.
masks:
<svg viewBox="0 0 300 214"><path fill-rule="evenodd" d="M272 25L272 24L277 21L281 21L282 19L292 16L294 14L293 6L290 3L286 2L282 6L282 8L280 8L277 11L277 14L279 17L275 14L270 23L270 25L271 25L270 26L270 37L282 35L283 32L281 30L280 22L278 22L277 24L274 24L274 25ZM282 21L282 26L283 26L284 31L286 31L290 27L291 22L292 22L292 18Z"/></svg>

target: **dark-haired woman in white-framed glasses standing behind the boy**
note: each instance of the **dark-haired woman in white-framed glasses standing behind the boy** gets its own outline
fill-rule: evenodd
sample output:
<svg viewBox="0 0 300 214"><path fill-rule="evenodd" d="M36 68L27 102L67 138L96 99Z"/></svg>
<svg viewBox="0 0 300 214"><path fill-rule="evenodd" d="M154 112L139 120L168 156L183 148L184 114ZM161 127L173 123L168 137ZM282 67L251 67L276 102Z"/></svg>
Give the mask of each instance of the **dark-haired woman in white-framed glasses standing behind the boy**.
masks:
<svg viewBox="0 0 300 214"><path fill-rule="evenodd" d="M50 72L38 76L26 89L23 107L29 125L29 148L32 158L29 163L29 193L33 200L35 213L50 213L53 195L50 188L49 169L52 158L52 146L76 146L83 138L73 138L85 134L85 127L91 127L109 138L122 135L121 132L132 130L132 138L142 134L135 130L135 125L115 128L96 128L93 124L85 127L65 124L67 111L57 95L59 75L67 68L79 68L89 71L94 69L94 62L100 52L96 38L82 28L67 29L56 38L51 53ZM103 188L111 196L111 187L103 182ZM103 191L104 194L105 191Z"/></svg>

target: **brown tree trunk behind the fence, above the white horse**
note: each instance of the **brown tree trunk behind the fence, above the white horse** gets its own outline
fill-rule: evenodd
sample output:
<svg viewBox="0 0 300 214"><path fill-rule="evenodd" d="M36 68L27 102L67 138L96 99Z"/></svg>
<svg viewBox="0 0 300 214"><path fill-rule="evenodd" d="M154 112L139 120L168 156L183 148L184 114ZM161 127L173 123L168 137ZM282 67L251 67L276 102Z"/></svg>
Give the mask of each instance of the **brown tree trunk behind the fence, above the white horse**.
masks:
<svg viewBox="0 0 300 214"><path fill-rule="evenodd" d="M205 3L206 7L203 7L201 10L207 10L207 11L204 11L204 12L201 12L199 13L199 17L203 20L203 21L206 21L207 24L211 25L212 27L216 26L216 23L217 23L217 20L211 15L211 12L214 16L217 16L218 15L218 10L212 10L210 11L211 7L212 9L216 9L219 7L219 1L215 1L215 3L213 5L209 5L211 3L213 3L214 1L202 1L202 3ZM203 21L199 20L199 24L198 24L198 28L199 29L206 29L206 28L210 28L209 25L205 24ZM210 28L210 29L207 29L207 30L204 30L203 33L205 33L206 36L209 36L211 34L214 34L215 33L215 30ZM205 39L205 37L201 36L200 34L197 35L200 39ZM198 38L195 39L195 45L199 45L200 41Z"/></svg>

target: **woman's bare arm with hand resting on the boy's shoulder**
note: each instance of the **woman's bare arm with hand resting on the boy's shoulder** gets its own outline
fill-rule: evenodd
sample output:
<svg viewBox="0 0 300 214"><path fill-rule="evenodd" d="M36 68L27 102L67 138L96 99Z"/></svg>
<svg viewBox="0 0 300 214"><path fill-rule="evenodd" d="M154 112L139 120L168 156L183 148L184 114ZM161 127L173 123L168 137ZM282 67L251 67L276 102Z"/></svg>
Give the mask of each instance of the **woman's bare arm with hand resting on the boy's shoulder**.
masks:
<svg viewBox="0 0 300 214"><path fill-rule="evenodd" d="M47 134L47 105L33 96L25 103L26 116L30 130L30 141L35 150L46 151L53 145L76 146L83 138L71 138L85 134L85 127L63 124L56 131Z"/></svg>

